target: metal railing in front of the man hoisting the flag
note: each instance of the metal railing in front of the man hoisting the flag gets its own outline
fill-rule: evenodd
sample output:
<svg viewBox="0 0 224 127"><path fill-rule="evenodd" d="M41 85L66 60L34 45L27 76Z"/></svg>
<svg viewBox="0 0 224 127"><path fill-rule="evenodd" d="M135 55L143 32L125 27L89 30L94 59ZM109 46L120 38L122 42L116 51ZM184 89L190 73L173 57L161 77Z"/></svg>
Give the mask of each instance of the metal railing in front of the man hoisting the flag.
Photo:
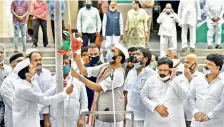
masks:
<svg viewBox="0 0 224 127"><path fill-rule="evenodd" d="M93 112L82 112L83 115L83 122L84 122L84 127L86 126L86 115L90 114L98 114L98 115L112 115L114 114L113 111L93 111ZM134 127L134 112L133 111L116 111L115 114L131 114L131 127Z"/></svg>

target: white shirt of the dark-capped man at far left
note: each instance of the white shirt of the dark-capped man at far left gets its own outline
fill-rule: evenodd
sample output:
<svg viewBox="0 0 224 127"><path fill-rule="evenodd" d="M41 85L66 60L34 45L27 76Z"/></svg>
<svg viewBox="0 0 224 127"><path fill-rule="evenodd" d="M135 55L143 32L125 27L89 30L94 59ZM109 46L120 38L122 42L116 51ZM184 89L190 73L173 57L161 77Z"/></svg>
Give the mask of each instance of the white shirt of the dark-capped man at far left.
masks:
<svg viewBox="0 0 224 127"><path fill-rule="evenodd" d="M19 77L16 73L12 72L3 81L1 86L1 95L5 104L4 122L5 127L13 127L12 120L12 100L15 91L15 85L19 81Z"/></svg>

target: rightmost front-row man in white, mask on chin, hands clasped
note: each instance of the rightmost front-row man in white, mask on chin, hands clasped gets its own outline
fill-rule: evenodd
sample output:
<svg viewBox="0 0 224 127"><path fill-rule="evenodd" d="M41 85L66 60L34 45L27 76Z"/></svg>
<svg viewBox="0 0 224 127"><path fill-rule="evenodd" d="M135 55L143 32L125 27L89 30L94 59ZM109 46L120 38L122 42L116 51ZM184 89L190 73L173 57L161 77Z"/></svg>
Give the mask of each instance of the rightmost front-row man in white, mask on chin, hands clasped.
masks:
<svg viewBox="0 0 224 127"><path fill-rule="evenodd" d="M188 100L194 116L191 127L224 127L222 65L221 55L208 55L203 68L205 75L191 81L191 96Z"/></svg>

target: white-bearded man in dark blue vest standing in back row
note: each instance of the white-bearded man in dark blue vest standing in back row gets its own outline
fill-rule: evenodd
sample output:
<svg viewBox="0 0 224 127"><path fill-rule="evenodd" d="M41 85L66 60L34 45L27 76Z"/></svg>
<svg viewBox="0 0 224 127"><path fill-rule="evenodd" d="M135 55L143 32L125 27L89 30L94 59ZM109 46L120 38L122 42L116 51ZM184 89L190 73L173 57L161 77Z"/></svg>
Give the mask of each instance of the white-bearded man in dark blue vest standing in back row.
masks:
<svg viewBox="0 0 224 127"><path fill-rule="evenodd" d="M104 39L103 48L108 50L113 44L123 39L124 28L122 14L117 11L116 1L110 1L109 11L103 16L102 35Z"/></svg>

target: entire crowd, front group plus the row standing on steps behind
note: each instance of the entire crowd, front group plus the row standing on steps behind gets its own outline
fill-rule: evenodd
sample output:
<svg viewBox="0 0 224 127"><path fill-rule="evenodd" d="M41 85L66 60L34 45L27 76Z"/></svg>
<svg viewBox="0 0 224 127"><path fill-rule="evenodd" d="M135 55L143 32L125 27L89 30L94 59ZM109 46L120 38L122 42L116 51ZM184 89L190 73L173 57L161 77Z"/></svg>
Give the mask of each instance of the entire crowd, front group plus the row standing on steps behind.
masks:
<svg viewBox="0 0 224 127"><path fill-rule="evenodd" d="M54 0L50 1L51 4L52 2ZM214 23L210 24L209 30L213 29L214 32L214 27L221 24L224 8L222 4L218 4L218 0L207 2L209 18ZM103 48L107 49L107 52L106 62L101 61L101 48L93 43L100 34L101 20L98 10L91 4L90 0L86 0L85 7L78 13L77 28L84 47L81 57L77 53L73 53L72 58L68 54L63 56L64 83L61 85L64 86L64 91L61 93L56 93L56 76L52 76L49 70L43 68L40 52L34 49L26 50L23 43L26 55L12 55L9 59L10 67L4 64L5 49L0 46L1 126L56 127L57 103L64 101L63 127L83 127L84 123L90 127L132 126L132 117L128 114L89 115L87 121L83 121L84 111L133 111L134 127L224 127L222 55L206 56L203 72L199 72L197 55L188 54L182 61L178 57L175 44L171 48L163 46L166 48L162 49L163 55L160 54L161 57L158 58L149 48L145 48L149 41L151 24L149 13L152 13L154 1L132 2L133 9L128 12L125 28L125 33L128 34L126 39L123 38L122 15L116 10L116 2L111 1L109 11L103 17ZM184 11L188 9L184 7L188 4L184 3L184 0L181 1L180 8L184 13L182 16L189 16L185 14L188 11ZM193 8L198 9L197 0L188 6L192 7L192 4L195 5ZM53 5L50 6L52 22ZM16 0L12 4L14 20L20 22L15 23L15 29L21 31L24 29L24 18L27 15L26 9L21 9L22 6L27 7L26 1ZM141 6L145 10L141 9ZM13 7L21 8L14 10ZM62 8L65 10L63 4ZM21 10L23 13L18 15L17 11ZM38 31L41 25L45 31L48 5L44 0L37 0L31 4L31 10L34 15L34 30ZM64 16L63 11L62 15ZM194 25L184 23L181 20L186 17L182 16L178 17L174 13L171 4L166 5L157 20L161 23L161 44L167 45L171 40L175 42L176 38L173 39L172 36L176 31L173 31L175 25L172 23L179 22L183 31L186 32L188 27L190 32L193 31L190 47L195 45L193 40L196 21ZM194 19L196 20L192 18ZM168 27L166 23L169 24ZM216 28L218 29L219 27ZM34 32L34 48L37 47L37 31ZM186 40L185 32L182 33L183 40ZM46 31L43 34L43 43L47 47ZM209 37L210 35L208 32ZM18 38L17 34L15 36ZM14 39L17 42L16 37ZM120 40L126 41L124 43L127 47L120 44ZM18 51L16 44L15 51ZM216 47L221 48L220 43L217 44ZM185 46L186 43L183 43L183 50L186 50ZM192 46L191 50L194 48ZM73 64L76 64L77 68L74 68Z"/></svg>

